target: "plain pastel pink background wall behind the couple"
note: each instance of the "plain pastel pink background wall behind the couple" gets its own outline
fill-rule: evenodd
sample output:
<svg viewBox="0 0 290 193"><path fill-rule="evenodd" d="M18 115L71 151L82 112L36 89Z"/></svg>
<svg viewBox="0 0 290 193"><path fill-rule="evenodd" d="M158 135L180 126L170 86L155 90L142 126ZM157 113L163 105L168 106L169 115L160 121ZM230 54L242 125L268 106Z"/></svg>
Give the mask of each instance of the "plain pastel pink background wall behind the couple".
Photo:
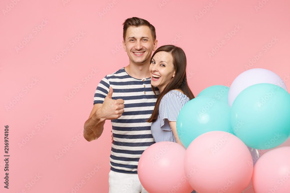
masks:
<svg viewBox="0 0 290 193"><path fill-rule="evenodd" d="M281 78L290 73L290 2L287 0L263 0L265 4L260 4L263 6L257 10L255 6L261 0L116 0L115 4L111 0L67 1L0 2L0 160L4 155L4 125L9 125L10 141L9 190L3 188L4 161L0 161L0 192L67 193L82 180L85 183L78 193L108 192L110 121L106 121L104 132L96 141L86 141L82 129L93 108L99 81L128 65L127 54L116 47L122 41L122 23L129 17L141 17L155 26L158 47L174 44L184 49L188 82L195 96L212 85L229 86L235 77L249 69L246 65L259 52L262 56L250 68L268 69ZM113 5L110 10L108 3ZM204 6L209 3L212 7L206 11ZM99 12L106 7L108 11L100 16ZM197 20L195 15L200 11L205 13ZM38 28L43 20L48 22ZM236 28L229 39L226 35L235 26L241 28ZM72 46L70 41L79 32L85 34ZM29 36L33 38L16 50ZM264 52L264 45L271 43L272 37L278 40ZM210 58L208 52L223 40L226 43ZM69 50L54 64L52 59L66 47ZM92 69L97 73L86 82L84 78ZM38 81L26 93L23 88L33 78ZM66 100L79 84L79 91ZM290 81L285 84L290 89ZM5 106L21 93L23 97L6 110ZM46 115L51 118L45 123L42 121ZM41 122L45 125L37 130L35 126ZM19 143L33 130L35 135L20 148ZM73 146L57 160L55 155L69 143ZM283 144L286 145L290 142ZM95 165L99 170L88 179L86 174ZM28 186L35 174L40 179Z"/></svg>

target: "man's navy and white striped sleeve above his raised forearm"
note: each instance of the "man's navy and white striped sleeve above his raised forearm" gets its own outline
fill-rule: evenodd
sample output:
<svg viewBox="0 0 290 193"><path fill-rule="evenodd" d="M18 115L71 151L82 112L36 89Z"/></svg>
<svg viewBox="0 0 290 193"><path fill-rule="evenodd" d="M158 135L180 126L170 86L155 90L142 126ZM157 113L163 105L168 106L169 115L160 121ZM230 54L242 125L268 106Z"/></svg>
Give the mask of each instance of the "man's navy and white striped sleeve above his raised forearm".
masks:
<svg viewBox="0 0 290 193"><path fill-rule="evenodd" d="M101 103L103 104L108 92L110 90L110 82L108 77L105 76L97 86L94 96L94 104Z"/></svg>

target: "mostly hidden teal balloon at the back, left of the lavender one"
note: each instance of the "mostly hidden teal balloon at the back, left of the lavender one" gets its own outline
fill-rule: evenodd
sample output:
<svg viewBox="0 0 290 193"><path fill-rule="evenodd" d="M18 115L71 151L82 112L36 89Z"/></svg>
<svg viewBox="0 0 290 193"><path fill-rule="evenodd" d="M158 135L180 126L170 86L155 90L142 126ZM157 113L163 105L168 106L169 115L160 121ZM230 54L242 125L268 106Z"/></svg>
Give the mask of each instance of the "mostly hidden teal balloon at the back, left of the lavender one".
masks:
<svg viewBox="0 0 290 193"><path fill-rule="evenodd" d="M211 96L217 99L222 100L226 104L228 104L228 95L229 95L229 87L223 85L214 85L211 87L207 87L203 89L197 97L200 96Z"/></svg>

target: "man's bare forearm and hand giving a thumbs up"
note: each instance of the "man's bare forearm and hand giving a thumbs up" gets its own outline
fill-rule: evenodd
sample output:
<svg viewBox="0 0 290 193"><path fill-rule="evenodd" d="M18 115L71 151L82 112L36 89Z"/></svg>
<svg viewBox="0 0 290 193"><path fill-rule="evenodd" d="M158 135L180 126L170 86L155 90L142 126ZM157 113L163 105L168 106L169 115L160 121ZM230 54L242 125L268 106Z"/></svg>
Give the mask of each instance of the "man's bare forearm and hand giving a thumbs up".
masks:
<svg viewBox="0 0 290 193"><path fill-rule="evenodd" d="M112 99L113 89L109 88L103 104L95 104L88 120L84 124L84 138L87 141L98 139L104 130L106 120L117 119L124 112L124 100Z"/></svg>

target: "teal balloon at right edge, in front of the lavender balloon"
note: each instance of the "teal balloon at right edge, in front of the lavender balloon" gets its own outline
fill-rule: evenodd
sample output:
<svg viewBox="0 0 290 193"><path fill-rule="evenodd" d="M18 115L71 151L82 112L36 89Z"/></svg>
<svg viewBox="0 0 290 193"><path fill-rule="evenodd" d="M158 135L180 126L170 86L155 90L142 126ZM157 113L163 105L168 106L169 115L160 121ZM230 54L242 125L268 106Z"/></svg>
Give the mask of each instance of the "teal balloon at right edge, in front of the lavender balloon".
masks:
<svg viewBox="0 0 290 193"><path fill-rule="evenodd" d="M290 135L290 94L269 83L247 87L233 102L231 126L234 134L251 148L281 145Z"/></svg>

